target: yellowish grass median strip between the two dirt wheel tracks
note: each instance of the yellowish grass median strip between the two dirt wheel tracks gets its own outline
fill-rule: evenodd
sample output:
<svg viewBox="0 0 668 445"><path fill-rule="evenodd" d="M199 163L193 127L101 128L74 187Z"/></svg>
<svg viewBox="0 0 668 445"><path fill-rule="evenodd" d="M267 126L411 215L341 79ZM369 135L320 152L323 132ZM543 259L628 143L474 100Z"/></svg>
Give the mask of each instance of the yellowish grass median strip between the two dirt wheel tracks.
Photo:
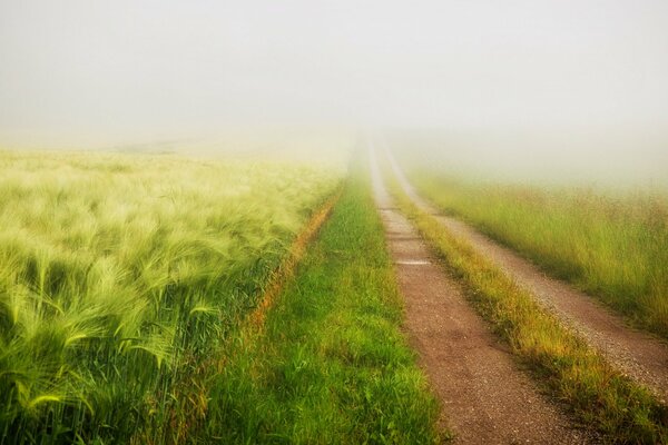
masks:
<svg viewBox="0 0 668 445"><path fill-rule="evenodd" d="M385 171L389 171L386 168ZM668 442L668 409L542 310L534 298L420 210L386 175L402 211L464 283L466 295L547 389L608 442Z"/></svg>

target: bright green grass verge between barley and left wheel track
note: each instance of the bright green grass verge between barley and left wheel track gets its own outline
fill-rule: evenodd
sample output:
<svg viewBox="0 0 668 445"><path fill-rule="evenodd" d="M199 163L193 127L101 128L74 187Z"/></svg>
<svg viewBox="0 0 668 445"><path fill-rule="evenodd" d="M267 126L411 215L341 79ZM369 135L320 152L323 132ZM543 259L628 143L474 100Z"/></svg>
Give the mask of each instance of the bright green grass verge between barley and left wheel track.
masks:
<svg viewBox="0 0 668 445"><path fill-rule="evenodd" d="M369 185L346 186L298 275L213 383L206 441L434 443Z"/></svg>

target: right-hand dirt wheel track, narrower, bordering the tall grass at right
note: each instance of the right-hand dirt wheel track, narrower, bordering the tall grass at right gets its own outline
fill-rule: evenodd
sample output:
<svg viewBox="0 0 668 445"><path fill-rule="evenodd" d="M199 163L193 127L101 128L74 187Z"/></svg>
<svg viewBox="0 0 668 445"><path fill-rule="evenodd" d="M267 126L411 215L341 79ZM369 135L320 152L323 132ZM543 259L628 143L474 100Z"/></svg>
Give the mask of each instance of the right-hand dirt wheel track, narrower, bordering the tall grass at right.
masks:
<svg viewBox="0 0 668 445"><path fill-rule="evenodd" d="M652 335L629 328L623 319L592 297L564 281L546 276L531 261L500 246L471 226L441 212L420 197L392 155L390 161L405 192L424 211L432 214L451 233L468 240L514 280L533 293L543 307L578 332L636 382L668 402L668 344Z"/></svg>

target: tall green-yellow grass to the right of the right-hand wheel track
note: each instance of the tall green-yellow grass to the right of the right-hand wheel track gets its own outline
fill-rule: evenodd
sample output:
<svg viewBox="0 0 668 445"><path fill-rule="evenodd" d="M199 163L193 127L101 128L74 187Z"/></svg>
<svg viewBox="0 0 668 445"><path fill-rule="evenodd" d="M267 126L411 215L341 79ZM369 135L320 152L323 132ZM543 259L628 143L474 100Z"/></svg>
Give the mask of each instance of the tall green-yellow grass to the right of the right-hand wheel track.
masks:
<svg viewBox="0 0 668 445"><path fill-rule="evenodd" d="M409 176L445 212L668 338L668 196Z"/></svg>

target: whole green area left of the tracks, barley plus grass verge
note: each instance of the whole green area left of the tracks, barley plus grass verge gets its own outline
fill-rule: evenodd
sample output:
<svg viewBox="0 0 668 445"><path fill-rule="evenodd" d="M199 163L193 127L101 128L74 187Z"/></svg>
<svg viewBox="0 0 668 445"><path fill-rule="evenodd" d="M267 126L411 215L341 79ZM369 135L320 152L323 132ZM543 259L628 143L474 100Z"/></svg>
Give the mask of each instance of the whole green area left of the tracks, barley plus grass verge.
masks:
<svg viewBox="0 0 668 445"><path fill-rule="evenodd" d="M0 443L436 442L363 167L298 151L2 152Z"/></svg>

